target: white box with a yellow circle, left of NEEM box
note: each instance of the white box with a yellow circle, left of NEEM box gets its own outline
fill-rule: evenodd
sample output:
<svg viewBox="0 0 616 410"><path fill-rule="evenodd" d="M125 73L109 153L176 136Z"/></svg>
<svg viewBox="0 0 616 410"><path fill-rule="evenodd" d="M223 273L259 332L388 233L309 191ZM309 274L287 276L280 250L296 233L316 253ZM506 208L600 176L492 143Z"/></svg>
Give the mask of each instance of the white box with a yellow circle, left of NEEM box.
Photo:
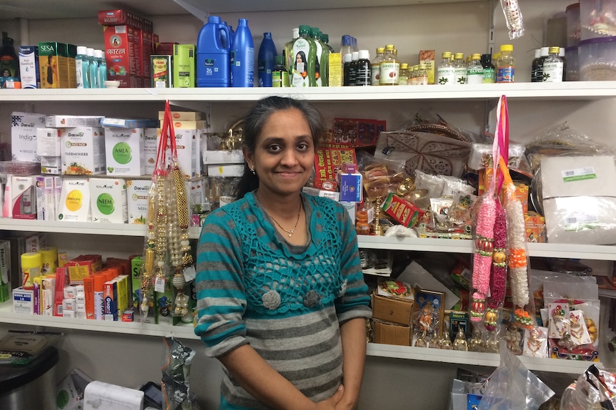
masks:
<svg viewBox="0 0 616 410"><path fill-rule="evenodd" d="M60 204L57 209L58 220L69 222L91 221L89 180L86 178L64 178Z"/></svg>

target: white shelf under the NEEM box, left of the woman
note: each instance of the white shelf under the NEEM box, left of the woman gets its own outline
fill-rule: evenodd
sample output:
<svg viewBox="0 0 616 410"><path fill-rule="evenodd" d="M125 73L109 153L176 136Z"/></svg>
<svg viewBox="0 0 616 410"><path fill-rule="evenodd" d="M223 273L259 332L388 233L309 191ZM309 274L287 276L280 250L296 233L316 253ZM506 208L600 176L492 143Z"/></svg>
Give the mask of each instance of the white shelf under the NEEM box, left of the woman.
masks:
<svg viewBox="0 0 616 410"><path fill-rule="evenodd" d="M20 220L0 218L0 230L21 232L56 232L91 235L145 236L145 225L95 222L50 222L39 220ZM197 239L200 227L189 227L189 237Z"/></svg>

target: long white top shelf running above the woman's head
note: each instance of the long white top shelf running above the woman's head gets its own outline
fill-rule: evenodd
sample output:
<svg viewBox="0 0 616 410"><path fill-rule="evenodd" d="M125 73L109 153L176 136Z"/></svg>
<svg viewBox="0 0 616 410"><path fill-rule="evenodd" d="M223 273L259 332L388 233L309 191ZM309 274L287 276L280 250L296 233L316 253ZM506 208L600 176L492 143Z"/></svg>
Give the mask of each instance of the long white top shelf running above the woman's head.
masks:
<svg viewBox="0 0 616 410"><path fill-rule="evenodd" d="M353 101L496 101L505 94L509 101L594 101L616 97L614 81L565 83L478 84L465 86L324 87L324 88L101 88L101 89L1 89L0 103L66 101L199 101L254 102L281 95L307 101L349 103Z"/></svg>

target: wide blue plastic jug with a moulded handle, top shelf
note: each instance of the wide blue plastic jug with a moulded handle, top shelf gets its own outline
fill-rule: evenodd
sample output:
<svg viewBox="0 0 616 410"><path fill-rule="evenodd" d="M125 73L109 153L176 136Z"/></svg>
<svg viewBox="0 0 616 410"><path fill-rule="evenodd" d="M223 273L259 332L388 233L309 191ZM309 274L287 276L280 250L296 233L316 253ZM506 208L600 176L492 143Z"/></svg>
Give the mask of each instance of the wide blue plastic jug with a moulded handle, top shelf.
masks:
<svg viewBox="0 0 616 410"><path fill-rule="evenodd" d="M231 85L231 33L219 16L209 16L197 37L197 87Z"/></svg>

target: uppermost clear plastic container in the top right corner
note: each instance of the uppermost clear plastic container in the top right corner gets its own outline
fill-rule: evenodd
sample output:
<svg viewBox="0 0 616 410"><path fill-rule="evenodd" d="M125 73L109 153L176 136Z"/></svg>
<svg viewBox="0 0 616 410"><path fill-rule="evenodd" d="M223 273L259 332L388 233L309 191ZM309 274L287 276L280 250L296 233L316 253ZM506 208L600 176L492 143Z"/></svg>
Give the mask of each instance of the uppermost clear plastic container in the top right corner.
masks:
<svg viewBox="0 0 616 410"><path fill-rule="evenodd" d="M616 0L580 0L580 41L616 36Z"/></svg>

